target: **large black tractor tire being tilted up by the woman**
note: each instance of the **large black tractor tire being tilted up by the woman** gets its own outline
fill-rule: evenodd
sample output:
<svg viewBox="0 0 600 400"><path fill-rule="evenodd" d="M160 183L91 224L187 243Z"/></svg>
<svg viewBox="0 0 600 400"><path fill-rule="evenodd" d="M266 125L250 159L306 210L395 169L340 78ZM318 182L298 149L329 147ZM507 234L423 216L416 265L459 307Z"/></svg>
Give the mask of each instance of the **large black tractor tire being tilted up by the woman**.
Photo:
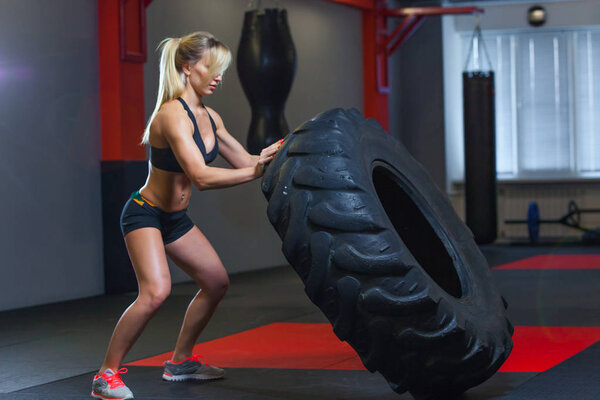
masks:
<svg viewBox="0 0 600 400"><path fill-rule="evenodd" d="M333 109L307 121L262 190L308 297L396 392L448 398L506 360L513 328L472 233L375 120Z"/></svg>

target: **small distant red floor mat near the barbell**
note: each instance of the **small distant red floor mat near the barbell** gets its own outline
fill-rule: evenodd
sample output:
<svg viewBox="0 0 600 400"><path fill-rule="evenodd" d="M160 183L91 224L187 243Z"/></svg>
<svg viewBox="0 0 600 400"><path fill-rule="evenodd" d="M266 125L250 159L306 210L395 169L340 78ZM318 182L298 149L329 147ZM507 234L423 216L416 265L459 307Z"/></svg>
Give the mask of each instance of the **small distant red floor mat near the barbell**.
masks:
<svg viewBox="0 0 600 400"><path fill-rule="evenodd" d="M600 255L548 254L524 258L493 269L600 269Z"/></svg>

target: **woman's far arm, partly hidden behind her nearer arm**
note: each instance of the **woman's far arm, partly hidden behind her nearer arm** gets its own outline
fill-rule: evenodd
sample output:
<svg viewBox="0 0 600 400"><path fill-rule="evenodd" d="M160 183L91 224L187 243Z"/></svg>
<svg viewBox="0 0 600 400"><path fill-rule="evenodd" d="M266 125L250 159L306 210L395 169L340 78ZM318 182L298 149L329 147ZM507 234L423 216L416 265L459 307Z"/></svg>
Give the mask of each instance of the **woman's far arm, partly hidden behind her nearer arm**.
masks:
<svg viewBox="0 0 600 400"><path fill-rule="evenodd" d="M210 112L211 117L217 126L217 137L219 138L219 154L233 168L244 168L256 165L261 157L267 157L277 151L279 142L273 143L271 146L264 148L260 155L249 154L244 146L240 144L229 132L225 129L225 124L221 116L212 108L206 107Z"/></svg>

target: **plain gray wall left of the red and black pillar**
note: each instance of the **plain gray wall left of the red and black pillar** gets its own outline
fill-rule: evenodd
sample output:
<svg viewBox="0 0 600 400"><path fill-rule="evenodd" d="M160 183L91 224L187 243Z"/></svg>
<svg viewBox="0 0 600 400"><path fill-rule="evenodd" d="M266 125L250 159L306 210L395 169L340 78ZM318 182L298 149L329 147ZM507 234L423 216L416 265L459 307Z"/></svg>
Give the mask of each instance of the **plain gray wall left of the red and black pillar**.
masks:
<svg viewBox="0 0 600 400"><path fill-rule="evenodd" d="M101 294L96 2L0 2L0 310Z"/></svg>

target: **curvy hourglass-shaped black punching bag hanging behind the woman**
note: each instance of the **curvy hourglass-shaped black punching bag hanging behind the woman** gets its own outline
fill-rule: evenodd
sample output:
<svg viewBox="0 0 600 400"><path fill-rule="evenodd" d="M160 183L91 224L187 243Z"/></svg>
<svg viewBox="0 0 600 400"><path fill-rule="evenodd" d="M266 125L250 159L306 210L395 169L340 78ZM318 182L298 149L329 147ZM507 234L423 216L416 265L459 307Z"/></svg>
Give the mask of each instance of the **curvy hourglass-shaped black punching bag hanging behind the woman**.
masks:
<svg viewBox="0 0 600 400"><path fill-rule="evenodd" d="M252 108L248 151L258 154L289 133L283 111L296 73L296 49L279 8L247 11L237 53L237 70Z"/></svg>

